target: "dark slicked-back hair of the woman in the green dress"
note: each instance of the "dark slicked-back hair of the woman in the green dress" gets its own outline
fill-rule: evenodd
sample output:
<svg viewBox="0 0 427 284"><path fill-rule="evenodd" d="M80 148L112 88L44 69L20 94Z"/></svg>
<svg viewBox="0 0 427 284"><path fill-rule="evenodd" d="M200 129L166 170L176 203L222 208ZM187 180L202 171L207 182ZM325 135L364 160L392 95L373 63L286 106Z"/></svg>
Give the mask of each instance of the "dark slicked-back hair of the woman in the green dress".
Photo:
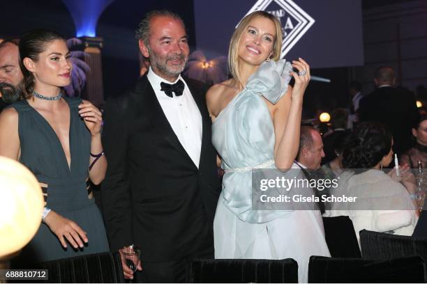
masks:
<svg viewBox="0 0 427 284"><path fill-rule="evenodd" d="M24 33L20 38L20 68L24 79L20 84L21 99L27 100L33 95L34 91L34 75L24 65L24 58L28 57L32 61L38 61L38 54L45 52L46 45L53 40L64 40L56 31L49 29L36 29Z"/></svg>

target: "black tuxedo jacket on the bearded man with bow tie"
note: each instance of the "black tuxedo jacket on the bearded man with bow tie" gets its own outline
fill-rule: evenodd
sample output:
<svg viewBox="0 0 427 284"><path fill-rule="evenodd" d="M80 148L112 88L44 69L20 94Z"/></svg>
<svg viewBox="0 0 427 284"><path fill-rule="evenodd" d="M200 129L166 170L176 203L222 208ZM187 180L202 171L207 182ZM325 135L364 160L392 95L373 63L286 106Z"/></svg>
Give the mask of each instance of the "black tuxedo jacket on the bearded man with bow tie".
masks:
<svg viewBox="0 0 427 284"><path fill-rule="evenodd" d="M207 88L184 79L202 115L197 168L179 142L147 76L105 106L103 214L112 251L140 246L142 260L213 255L213 216L220 194L211 143Z"/></svg>

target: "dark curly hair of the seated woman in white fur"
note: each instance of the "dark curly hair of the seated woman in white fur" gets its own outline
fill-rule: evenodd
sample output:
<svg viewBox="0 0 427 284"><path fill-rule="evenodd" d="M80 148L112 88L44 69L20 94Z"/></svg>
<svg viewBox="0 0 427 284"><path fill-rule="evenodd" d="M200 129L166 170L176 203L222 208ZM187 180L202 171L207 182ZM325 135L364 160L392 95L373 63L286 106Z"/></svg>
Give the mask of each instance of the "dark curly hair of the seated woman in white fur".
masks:
<svg viewBox="0 0 427 284"><path fill-rule="evenodd" d="M347 137L344 168L373 168L391 150L391 132L381 123L361 123Z"/></svg>

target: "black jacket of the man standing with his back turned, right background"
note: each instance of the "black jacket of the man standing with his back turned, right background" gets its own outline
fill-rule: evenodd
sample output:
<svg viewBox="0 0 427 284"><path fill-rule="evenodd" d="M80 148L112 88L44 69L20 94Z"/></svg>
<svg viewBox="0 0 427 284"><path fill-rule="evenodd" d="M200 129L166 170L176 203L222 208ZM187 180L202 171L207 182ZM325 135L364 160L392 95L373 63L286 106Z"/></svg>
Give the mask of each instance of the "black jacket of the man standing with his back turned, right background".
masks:
<svg viewBox="0 0 427 284"><path fill-rule="evenodd" d="M387 125L393 134L394 152L411 148L412 126L418 118L414 95L403 88L382 87L363 97L359 103L359 120Z"/></svg>

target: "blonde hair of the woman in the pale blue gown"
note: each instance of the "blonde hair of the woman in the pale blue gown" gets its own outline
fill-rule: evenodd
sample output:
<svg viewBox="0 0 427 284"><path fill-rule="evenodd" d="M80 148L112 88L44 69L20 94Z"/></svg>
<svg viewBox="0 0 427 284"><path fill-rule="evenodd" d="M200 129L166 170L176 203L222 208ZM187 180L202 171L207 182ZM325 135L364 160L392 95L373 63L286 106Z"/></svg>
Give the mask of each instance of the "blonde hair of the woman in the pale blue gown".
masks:
<svg viewBox="0 0 427 284"><path fill-rule="evenodd" d="M241 86L244 86L241 74L239 71L239 43L242 34L248 29L248 26L258 17L266 17L267 19L271 19L276 26L276 36L274 36L273 43L273 54L271 56L271 60L278 61L280 59L280 55L282 52L282 41L283 41L283 33L282 33L282 24L277 17L271 15L265 11L255 11L246 15L240 22L237 28L234 30L232 38L230 40L230 47L228 49L228 66L230 68L230 73L234 80L237 81Z"/></svg>

